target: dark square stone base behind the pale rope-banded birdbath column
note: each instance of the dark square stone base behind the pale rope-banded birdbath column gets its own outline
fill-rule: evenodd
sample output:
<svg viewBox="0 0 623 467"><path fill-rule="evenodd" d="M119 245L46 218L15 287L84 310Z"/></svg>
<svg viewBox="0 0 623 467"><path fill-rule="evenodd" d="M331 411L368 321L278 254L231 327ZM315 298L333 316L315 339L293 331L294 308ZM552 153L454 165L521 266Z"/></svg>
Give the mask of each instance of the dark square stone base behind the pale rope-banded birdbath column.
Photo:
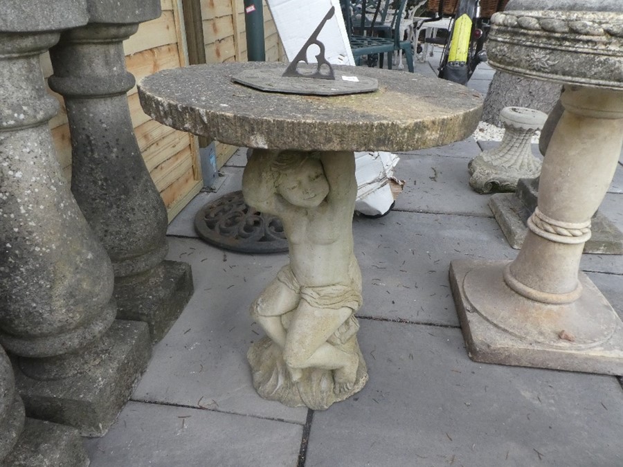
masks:
<svg viewBox="0 0 623 467"><path fill-rule="evenodd" d="M494 194L489 200L489 208L493 211L509 245L512 248L521 248L527 232L527 219L532 215L532 211L512 193ZM597 211L590 223L591 235L584 244L584 253L623 254L623 233L610 219Z"/></svg>

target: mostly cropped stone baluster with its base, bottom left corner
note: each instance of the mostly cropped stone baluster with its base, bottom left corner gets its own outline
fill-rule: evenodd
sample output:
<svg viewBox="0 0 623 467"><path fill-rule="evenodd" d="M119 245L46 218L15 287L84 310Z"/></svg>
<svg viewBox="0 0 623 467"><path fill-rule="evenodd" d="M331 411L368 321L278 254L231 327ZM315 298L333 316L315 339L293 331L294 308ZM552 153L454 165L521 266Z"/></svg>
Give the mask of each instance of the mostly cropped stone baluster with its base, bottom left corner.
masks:
<svg viewBox="0 0 623 467"><path fill-rule="evenodd" d="M0 465L3 467L88 466L75 428L26 419L15 390L8 356L0 347Z"/></svg>

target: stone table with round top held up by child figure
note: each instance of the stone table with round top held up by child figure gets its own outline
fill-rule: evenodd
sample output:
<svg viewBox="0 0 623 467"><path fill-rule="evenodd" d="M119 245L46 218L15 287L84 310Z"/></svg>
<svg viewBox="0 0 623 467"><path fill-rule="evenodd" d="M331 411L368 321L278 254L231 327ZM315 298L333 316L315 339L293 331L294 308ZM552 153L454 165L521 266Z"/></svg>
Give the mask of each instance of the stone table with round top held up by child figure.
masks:
<svg viewBox="0 0 623 467"><path fill-rule="evenodd" d="M232 82L254 68L285 65L166 70L138 92L145 112L165 125L254 148L244 198L282 219L290 258L251 305L267 333L249 349L253 385L267 399L323 410L368 381L354 317L362 300L353 152L462 140L478 124L482 99L458 84L373 68L336 67L379 81L377 91L352 95L270 93Z"/></svg>

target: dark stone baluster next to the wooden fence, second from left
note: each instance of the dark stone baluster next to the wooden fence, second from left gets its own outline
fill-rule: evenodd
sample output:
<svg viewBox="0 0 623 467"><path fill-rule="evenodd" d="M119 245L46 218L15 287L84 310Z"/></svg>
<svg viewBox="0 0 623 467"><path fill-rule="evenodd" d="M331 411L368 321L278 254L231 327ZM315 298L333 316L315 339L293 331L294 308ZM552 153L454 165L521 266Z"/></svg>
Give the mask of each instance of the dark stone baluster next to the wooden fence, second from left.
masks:
<svg viewBox="0 0 623 467"><path fill-rule="evenodd" d="M48 82L65 99L71 191L112 260L117 317L147 322L157 341L188 302L192 277L188 264L163 261L167 212L134 136L123 40L159 17L160 1L87 3L89 24L63 33L51 50Z"/></svg>

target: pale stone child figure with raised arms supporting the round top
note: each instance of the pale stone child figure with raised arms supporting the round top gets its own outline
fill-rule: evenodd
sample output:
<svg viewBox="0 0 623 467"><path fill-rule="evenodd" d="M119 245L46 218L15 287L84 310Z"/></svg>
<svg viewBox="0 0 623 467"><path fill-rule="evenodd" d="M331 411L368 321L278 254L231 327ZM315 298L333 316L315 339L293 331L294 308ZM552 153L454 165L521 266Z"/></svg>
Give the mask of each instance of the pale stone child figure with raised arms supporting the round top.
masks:
<svg viewBox="0 0 623 467"><path fill-rule="evenodd" d="M354 317L354 156L255 149L242 185L249 205L282 219L290 255L251 306L268 336L249 349L253 385L267 399L326 409L368 381Z"/></svg>

